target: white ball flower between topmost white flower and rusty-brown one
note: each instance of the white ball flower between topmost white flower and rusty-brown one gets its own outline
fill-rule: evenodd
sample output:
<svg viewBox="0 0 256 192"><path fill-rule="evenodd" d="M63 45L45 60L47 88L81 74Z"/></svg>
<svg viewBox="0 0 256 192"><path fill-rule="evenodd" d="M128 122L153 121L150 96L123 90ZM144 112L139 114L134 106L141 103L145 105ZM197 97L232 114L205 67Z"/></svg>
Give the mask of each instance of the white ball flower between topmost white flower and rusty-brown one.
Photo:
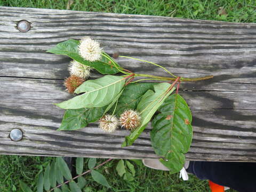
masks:
<svg viewBox="0 0 256 192"><path fill-rule="evenodd" d="M81 77L86 79L90 76L90 66L83 65L82 63L79 63L78 61L71 61L70 66L68 68L70 75L75 75L77 77Z"/></svg>

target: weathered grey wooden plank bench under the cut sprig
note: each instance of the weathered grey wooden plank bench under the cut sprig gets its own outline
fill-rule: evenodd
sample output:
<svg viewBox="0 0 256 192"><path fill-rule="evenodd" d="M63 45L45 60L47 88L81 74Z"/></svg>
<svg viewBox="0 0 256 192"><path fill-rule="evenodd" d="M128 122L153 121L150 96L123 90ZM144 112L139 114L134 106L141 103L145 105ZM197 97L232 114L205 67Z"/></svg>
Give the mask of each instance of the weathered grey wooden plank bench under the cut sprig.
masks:
<svg viewBox="0 0 256 192"><path fill-rule="evenodd" d="M17 28L21 20L30 30ZM64 110L52 103L71 98L63 86L70 59L45 51L84 36L98 39L110 55L160 63L178 76L214 75L180 86L193 113L194 137L186 157L256 161L255 23L14 7L0 7L0 154L157 158L149 128L126 148L121 148L129 134L125 130L106 134L91 124L55 131ZM167 76L146 63L117 61L138 73ZM9 138L13 129L22 130L22 140Z"/></svg>

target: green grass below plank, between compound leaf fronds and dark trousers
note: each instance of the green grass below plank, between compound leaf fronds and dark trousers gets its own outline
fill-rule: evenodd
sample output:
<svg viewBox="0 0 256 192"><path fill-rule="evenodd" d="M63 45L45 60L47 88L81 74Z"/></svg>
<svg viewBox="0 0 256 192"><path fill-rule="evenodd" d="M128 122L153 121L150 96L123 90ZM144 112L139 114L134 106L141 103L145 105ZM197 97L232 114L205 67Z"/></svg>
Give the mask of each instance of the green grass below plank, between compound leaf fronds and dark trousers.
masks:
<svg viewBox="0 0 256 192"><path fill-rule="evenodd" d="M144 165L139 166L134 164L136 174L134 180L127 182L122 179L116 171L116 165L119 160L113 160L106 164L106 166L101 167L100 172L105 175L111 190L107 190L106 187L98 185L91 178L90 174L86 175L85 179L88 182L87 188L92 188L92 191L131 191L131 192L207 192L210 191L208 182L206 180L199 180L194 175L189 175L188 181L183 181L179 178L179 174L170 174L167 171L159 171L150 169ZM103 160L101 159L101 161ZM87 166L85 164L85 170ZM90 190L89 190L90 191ZM89 192L88 191L88 192Z"/></svg>

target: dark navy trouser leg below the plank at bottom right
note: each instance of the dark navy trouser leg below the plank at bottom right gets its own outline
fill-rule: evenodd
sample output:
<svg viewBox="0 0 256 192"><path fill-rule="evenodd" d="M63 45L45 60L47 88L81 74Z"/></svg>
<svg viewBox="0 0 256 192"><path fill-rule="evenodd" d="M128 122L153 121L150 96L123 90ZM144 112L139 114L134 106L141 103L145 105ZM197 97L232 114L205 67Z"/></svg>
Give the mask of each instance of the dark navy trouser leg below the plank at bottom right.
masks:
<svg viewBox="0 0 256 192"><path fill-rule="evenodd" d="M256 163L190 161L187 172L239 192L256 192Z"/></svg>

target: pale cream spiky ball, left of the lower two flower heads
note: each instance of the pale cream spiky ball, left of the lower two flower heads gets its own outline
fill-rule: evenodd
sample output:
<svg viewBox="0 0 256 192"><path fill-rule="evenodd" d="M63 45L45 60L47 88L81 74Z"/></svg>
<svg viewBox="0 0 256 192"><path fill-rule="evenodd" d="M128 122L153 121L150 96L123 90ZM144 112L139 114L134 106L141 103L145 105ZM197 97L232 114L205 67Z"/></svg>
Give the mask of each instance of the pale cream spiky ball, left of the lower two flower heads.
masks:
<svg viewBox="0 0 256 192"><path fill-rule="evenodd" d="M100 124L99 127L107 132L107 133L112 133L116 130L117 126L118 126L118 119L116 118L115 115L103 115L100 118Z"/></svg>

